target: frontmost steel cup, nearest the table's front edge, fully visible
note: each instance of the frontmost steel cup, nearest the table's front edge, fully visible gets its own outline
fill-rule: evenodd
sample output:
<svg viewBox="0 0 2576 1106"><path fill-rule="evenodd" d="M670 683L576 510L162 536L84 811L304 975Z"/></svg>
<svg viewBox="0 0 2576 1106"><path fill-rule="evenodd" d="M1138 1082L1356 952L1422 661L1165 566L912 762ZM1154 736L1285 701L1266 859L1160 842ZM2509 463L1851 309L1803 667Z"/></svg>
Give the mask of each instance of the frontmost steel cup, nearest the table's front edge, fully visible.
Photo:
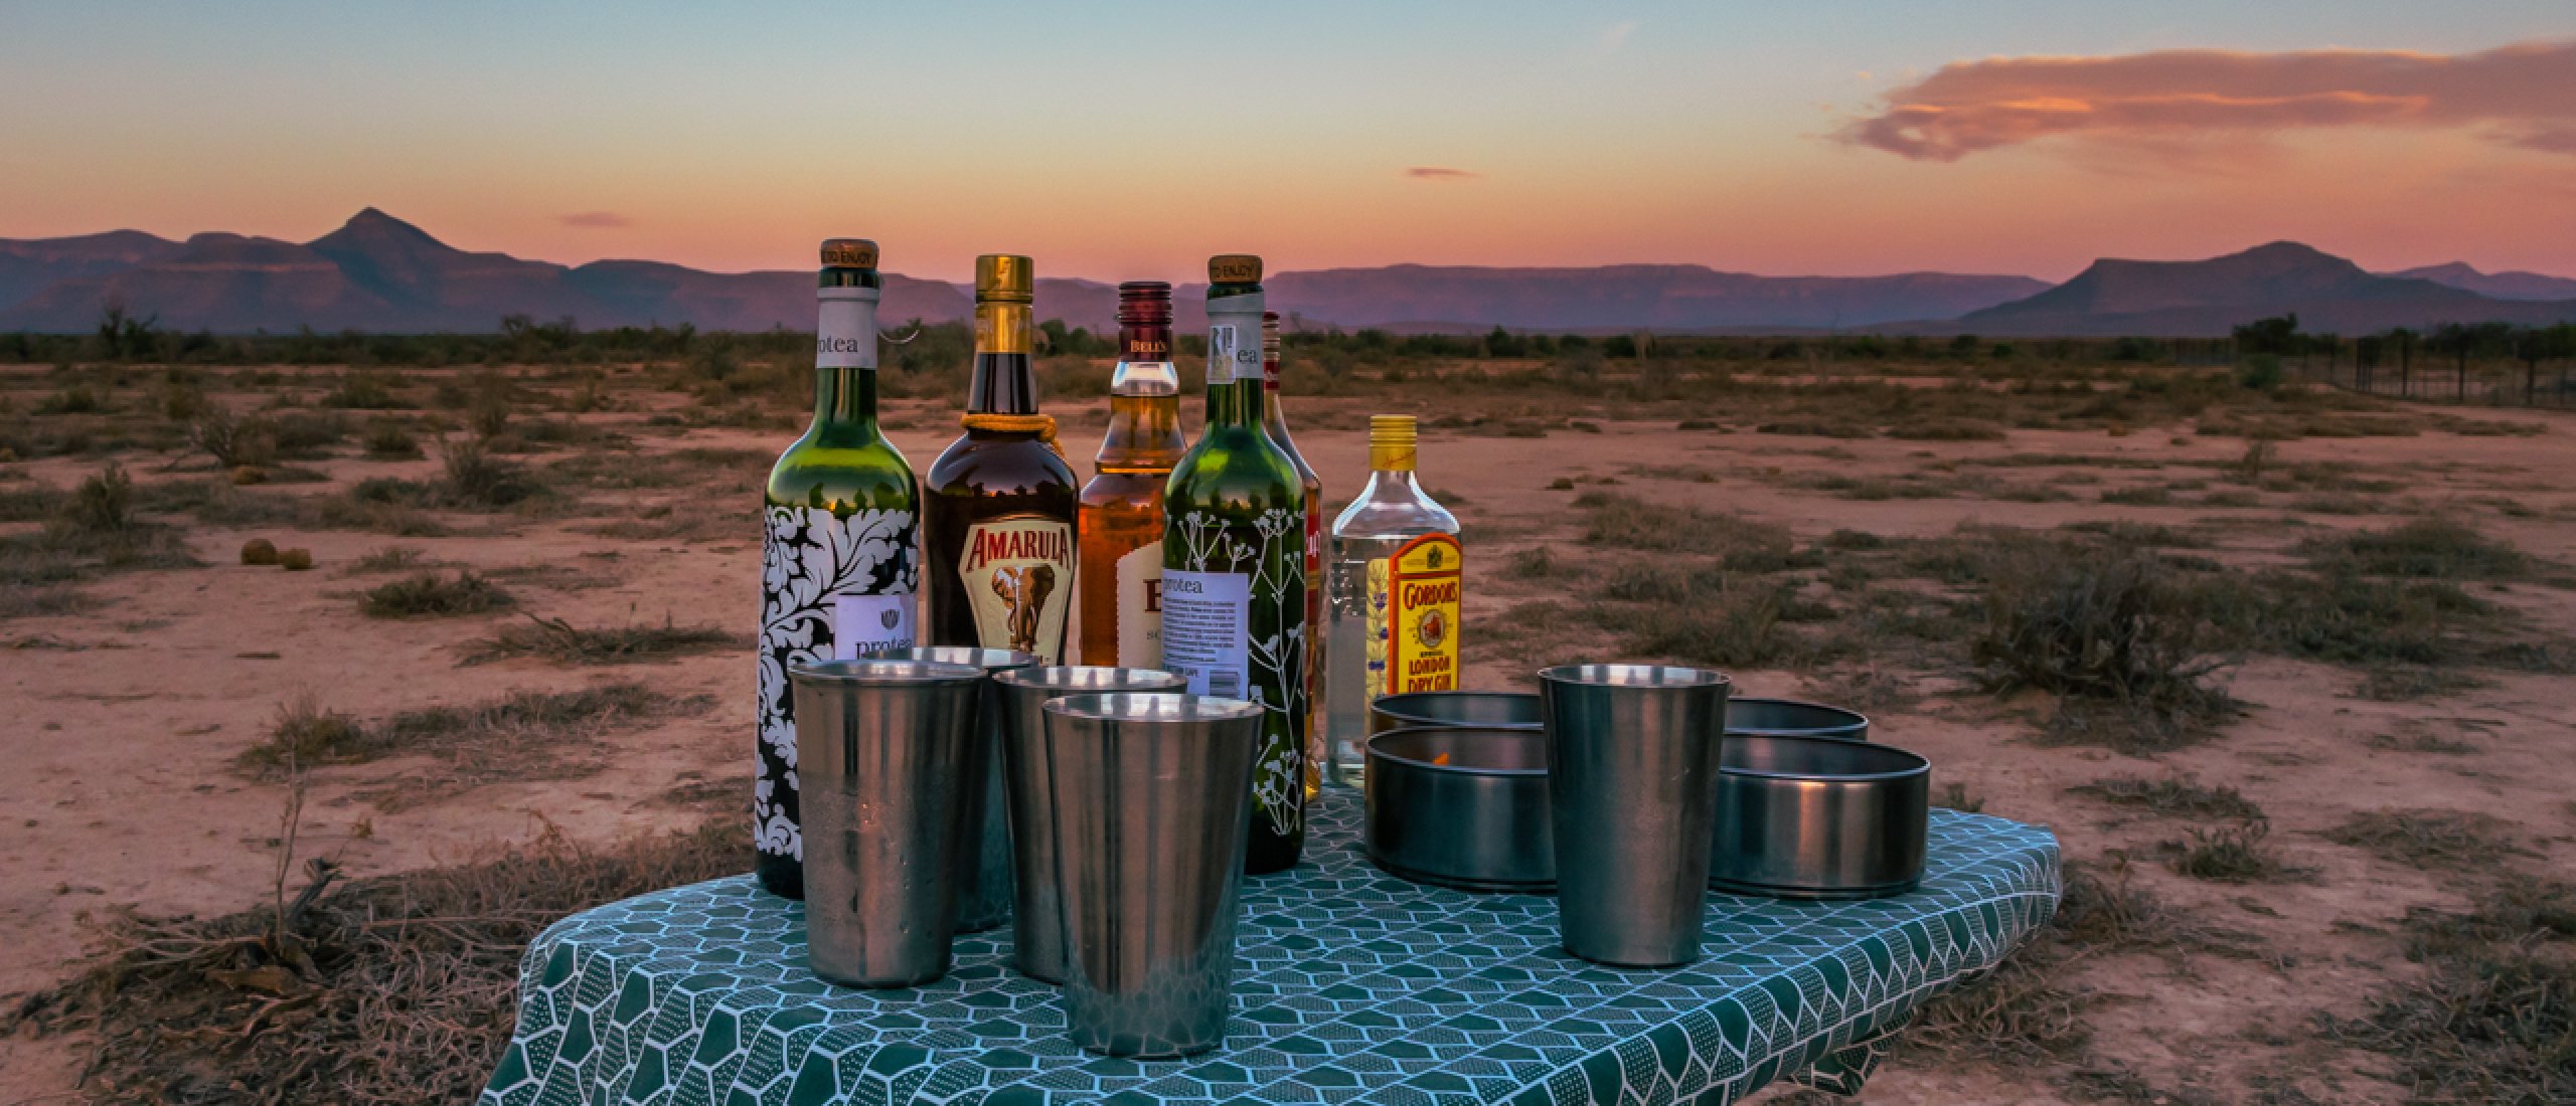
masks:
<svg viewBox="0 0 2576 1106"><path fill-rule="evenodd" d="M1242 700L1046 702L1074 1044L1185 1057L1226 1039L1260 746L1262 707Z"/></svg>

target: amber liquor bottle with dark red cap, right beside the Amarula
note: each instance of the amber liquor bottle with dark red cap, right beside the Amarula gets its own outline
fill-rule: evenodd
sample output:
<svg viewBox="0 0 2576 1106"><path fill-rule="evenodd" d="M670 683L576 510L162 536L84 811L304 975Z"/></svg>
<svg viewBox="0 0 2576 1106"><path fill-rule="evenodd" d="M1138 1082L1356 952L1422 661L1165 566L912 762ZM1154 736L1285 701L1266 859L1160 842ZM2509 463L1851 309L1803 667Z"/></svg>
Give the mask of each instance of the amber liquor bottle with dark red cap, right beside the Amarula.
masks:
<svg viewBox="0 0 2576 1106"><path fill-rule="evenodd" d="M1188 442L1180 437L1180 373L1172 370L1172 286L1118 286L1118 370L1110 430L1082 486L1082 664L1162 666L1162 486Z"/></svg>

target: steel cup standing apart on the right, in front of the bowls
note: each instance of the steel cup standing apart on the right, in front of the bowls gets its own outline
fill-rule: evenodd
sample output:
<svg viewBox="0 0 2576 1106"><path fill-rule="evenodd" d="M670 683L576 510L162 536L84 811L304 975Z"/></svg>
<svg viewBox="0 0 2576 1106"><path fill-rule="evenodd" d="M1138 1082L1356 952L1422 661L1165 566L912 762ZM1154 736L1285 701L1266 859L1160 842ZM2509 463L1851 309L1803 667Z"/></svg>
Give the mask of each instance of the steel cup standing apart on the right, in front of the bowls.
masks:
<svg viewBox="0 0 2576 1106"><path fill-rule="evenodd" d="M1700 959L1731 682L1705 669L1538 674L1566 952L1620 967Z"/></svg>

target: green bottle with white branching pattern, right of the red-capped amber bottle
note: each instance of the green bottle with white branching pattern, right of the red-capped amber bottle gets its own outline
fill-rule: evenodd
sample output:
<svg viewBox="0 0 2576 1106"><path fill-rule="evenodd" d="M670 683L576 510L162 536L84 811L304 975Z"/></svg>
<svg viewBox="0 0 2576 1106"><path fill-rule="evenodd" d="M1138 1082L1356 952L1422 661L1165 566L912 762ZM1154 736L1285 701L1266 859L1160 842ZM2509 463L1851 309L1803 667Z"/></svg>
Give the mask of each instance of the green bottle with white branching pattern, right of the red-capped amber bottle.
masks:
<svg viewBox="0 0 2576 1106"><path fill-rule="evenodd" d="M1172 468L1162 666L1262 705L1244 872L1306 846L1306 489L1262 432L1262 260L1208 260L1208 427Z"/></svg>

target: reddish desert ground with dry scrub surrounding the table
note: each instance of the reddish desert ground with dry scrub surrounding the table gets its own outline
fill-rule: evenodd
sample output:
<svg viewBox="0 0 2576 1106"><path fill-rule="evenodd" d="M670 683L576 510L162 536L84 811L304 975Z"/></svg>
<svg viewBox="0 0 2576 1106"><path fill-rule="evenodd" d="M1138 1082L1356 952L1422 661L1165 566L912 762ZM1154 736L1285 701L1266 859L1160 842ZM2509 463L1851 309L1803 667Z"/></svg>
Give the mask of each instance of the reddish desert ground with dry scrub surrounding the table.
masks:
<svg viewBox="0 0 2576 1106"><path fill-rule="evenodd" d="M544 921L739 869L778 360L0 365L0 1103L456 1101ZM1334 504L1422 414L1471 684L1718 666L2058 833L2058 921L1860 1101L2576 1096L2576 417L2087 350L1303 360ZM920 471L963 365L899 373ZM1046 365L1077 468L1100 376Z"/></svg>

